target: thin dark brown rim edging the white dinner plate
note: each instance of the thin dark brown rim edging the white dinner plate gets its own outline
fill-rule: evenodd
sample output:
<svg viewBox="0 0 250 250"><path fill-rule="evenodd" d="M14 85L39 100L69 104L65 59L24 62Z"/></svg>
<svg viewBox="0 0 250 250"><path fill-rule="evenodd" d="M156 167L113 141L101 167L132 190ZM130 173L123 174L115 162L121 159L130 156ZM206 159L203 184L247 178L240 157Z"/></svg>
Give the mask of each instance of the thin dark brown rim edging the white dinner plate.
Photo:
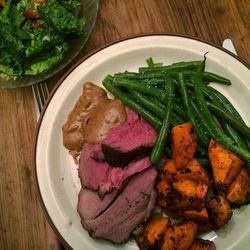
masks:
<svg viewBox="0 0 250 250"><path fill-rule="evenodd" d="M42 208L43 214L45 216L45 219L47 220L47 222L49 223L49 225L51 226L51 228L53 229L53 231L56 233L58 239L60 240L60 242L67 248L67 249L73 249L69 243L64 239L64 237L61 235L61 233L59 232L59 230L57 229L57 227L54 225L54 222L52 220L52 218L49 216L49 213L47 211L47 208L44 204L43 201L43 197L40 191L40 187L39 187L39 183L38 183L38 175L37 175L37 165L36 165L36 155L37 155L37 144L38 144L38 137L39 137L39 131L40 131L40 127L43 121L43 117L46 113L46 110L53 98L53 96L55 95L55 93L57 92L58 88L61 86L61 84L64 82L64 80L68 77L68 75L71 74L71 72L76 69L80 64L82 64L84 61L86 61L88 58L92 57L93 55L97 54L98 52L111 47L112 45L115 45L117 43L120 42L124 42L127 40L132 40L132 39L136 39L136 38L142 38L142 37L150 37L150 36L165 36L165 37L179 37L179 38L185 38L185 39L189 39L189 40L194 40L194 41L198 41L198 42L202 42L205 43L207 45L210 45L216 49L219 49L227 54L229 54L230 56L232 56L234 59L236 59L237 61L239 61L243 66L245 66L247 69L250 70L250 65L243 60L242 58L240 58L238 55L235 55L234 53L230 52L229 50L220 47L212 42L206 41L205 39L202 38L198 38L198 37L194 37L194 36L189 36L189 35L185 35L185 34L177 34L177 33L166 33L166 32L148 32L148 33L141 33L141 34L136 34L136 35L130 35L130 36L126 36L120 39L117 39L115 41L109 42L107 44L104 44L102 46L100 46L99 48L93 50L92 52L86 54L85 56L83 56L81 59L79 59L76 63L74 63L62 76L61 78L57 81L55 87L53 88L52 92L50 93L44 108L39 116L38 122L37 122L37 126L36 126L36 130L35 130L35 137L33 140L33 171L34 171L34 176L35 176L35 190L36 190L36 194L37 194L37 198L39 200L40 206Z"/></svg>

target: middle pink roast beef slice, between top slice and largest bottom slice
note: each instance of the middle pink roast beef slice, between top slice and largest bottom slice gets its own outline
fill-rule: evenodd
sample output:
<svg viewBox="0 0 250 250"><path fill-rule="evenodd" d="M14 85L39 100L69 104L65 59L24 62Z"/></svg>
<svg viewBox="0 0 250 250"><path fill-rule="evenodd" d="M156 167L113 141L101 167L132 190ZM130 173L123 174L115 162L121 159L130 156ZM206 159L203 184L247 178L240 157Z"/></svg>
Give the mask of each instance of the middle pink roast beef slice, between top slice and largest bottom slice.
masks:
<svg viewBox="0 0 250 250"><path fill-rule="evenodd" d="M79 177L82 186L98 191L100 195L110 192L113 188L120 189L127 178L151 166L149 157L145 157L131 162L125 168L113 168L107 162L98 161L93 157L100 151L99 144L85 143L79 164Z"/></svg>

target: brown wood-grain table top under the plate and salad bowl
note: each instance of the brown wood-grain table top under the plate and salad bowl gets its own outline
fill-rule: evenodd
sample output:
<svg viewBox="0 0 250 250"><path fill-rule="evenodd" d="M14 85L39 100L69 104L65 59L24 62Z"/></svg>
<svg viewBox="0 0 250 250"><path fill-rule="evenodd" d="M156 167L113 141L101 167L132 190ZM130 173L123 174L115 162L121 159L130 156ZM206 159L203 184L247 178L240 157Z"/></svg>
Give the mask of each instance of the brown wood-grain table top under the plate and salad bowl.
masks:
<svg viewBox="0 0 250 250"><path fill-rule="evenodd" d="M96 26L79 58L120 38L169 32L219 46L229 37L250 64L249 27L249 0L101 0ZM49 80L50 89L62 74ZM32 165L36 117L31 88L1 90L0 117L0 249L46 249Z"/></svg>

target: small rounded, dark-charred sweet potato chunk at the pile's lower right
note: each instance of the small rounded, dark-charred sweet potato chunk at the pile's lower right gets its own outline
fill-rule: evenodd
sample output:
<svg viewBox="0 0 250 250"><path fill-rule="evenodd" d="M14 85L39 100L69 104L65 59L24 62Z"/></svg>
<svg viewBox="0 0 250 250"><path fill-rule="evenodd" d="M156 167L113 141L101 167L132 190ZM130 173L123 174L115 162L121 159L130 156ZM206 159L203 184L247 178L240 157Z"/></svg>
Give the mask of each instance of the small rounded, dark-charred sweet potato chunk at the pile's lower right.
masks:
<svg viewBox="0 0 250 250"><path fill-rule="evenodd" d="M215 228L224 226L232 217L232 209L227 199L218 195L207 202L210 221Z"/></svg>

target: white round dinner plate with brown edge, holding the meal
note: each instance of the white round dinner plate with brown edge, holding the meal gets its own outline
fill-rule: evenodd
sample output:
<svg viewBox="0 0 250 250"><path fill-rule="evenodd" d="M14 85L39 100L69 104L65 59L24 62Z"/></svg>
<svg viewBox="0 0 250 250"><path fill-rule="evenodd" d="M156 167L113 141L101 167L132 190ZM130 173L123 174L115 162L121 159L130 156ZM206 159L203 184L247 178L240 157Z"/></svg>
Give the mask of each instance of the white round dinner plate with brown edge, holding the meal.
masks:
<svg viewBox="0 0 250 250"><path fill-rule="evenodd" d="M45 213L59 237L73 249L137 249L134 242L113 245L93 240L82 228L76 211L80 190L77 166L62 144L61 128L67 114L82 92L82 84L92 81L101 86L107 74L136 71L153 57L156 62L170 64L203 59L207 54L207 70L231 79L233 85L218 86L250 123L250 71L248 66L225 50L200 40L174 35L145 35L126 39L105 47L80 62L59 82L41 116L35 147L36 176L39 197ZM91 204L89 204L91 209ZM204 238L214 240L218 250L248 249L250 243L250 206L235 210L223 230ZM115 218L114 218L115 219Z"/></svg>

